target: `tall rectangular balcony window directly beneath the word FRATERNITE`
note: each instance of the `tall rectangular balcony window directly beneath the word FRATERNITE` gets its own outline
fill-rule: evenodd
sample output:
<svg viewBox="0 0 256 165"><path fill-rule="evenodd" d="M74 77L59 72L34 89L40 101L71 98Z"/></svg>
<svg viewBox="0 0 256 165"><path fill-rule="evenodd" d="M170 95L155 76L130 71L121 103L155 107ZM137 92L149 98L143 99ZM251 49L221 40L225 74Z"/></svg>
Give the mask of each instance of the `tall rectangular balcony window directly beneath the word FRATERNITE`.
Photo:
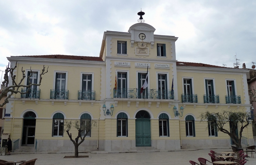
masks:
<svg viewBox="0 0 256 165"><path fill-rule="evenodd" d="M158 99L168 99L167 74L158 74Z"/></svg>

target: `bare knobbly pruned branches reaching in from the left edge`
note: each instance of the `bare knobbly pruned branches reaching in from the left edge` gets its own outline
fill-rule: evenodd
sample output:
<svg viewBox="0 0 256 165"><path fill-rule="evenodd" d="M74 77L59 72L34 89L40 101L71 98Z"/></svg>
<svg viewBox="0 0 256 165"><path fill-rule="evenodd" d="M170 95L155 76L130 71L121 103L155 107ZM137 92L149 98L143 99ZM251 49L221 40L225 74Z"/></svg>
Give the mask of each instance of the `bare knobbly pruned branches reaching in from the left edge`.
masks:
<svg viewBox="0 0 256 165"><path fill-rule="evenodd" d="M49 67L49 66L48 66ZM41 81L42 81L42 75L47 73L48 72L48 67L47 67L47 70L45 71L45 65L43 65L43 69L42 69L42 72L40 73L40 80L39 80L39 83L38 84L32 84L29 80L29 78L32 76L32 74L30 74L27 78L28 78L28 85L22 85L22 81L26 78L26 75L25 75L25 70L23 70L23 67L21 68L21 72L22 72L22 78L20 80L20 82L17 82L16 80L16 75L14 75L14 70L17 68L17 62L15 64L14 67L10 67L9 66L9 63L8 65L6 66L6 69L5 69L5 75L4 75L4 81L1 82L1 93L0 93L0 100L6 96L8 94L8 92L11 92L7 95L7 97L5 98L5 101L0 104L0 107L3 107L5 104L7 104L9 101L8 99L11 98L11 96L13 95L13 93L17 94L17 93L20 93L20 94L26 94L29 92L29 88L34 85L34 86L40 86L41 85ZM32 70L31 70L31 67L30 67L30 71L32 73ZM11 79L12 79L12 84L9 85L9 74L11 76ZM21 92L19 91L19 88L20 87L24 87L26 88L26 92Z"/></svg>

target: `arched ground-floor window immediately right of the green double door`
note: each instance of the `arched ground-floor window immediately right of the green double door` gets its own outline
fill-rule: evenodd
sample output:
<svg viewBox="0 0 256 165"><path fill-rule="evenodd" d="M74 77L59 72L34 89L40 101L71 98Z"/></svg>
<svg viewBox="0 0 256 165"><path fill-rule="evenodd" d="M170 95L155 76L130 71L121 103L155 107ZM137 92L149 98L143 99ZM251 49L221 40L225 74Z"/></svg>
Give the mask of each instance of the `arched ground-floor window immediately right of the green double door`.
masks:
<svg viewBox="0 0 256 165"><path fill-rule="evenodd" d="M159 115L159 137L170 136L169 116L166 113Z"/></svg>

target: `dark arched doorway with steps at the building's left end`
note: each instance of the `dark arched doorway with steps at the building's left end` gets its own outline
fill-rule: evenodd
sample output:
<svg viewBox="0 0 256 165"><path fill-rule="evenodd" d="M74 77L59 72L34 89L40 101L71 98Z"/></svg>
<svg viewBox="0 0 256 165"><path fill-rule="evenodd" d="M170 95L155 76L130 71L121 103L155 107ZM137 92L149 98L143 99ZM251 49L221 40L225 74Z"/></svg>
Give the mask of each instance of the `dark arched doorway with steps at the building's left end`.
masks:
<svg viewBox="0 0 256 165"><path fill-rule="evenodd" d="M34 146L36 114L28 111L23 115L22 146Z"/></svg>

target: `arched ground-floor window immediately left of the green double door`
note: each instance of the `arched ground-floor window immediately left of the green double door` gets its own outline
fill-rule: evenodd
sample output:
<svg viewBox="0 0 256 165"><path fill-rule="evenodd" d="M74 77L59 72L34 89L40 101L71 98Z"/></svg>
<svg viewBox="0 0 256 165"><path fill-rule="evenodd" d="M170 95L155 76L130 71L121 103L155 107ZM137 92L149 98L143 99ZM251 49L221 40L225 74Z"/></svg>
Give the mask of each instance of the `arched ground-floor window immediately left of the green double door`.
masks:
<svg viewBox="0 0 256 165"><path fill-rule="evenodd" d="M126 113L119 113L117 115L117 137L128 137L128 116Z"/></svg>

